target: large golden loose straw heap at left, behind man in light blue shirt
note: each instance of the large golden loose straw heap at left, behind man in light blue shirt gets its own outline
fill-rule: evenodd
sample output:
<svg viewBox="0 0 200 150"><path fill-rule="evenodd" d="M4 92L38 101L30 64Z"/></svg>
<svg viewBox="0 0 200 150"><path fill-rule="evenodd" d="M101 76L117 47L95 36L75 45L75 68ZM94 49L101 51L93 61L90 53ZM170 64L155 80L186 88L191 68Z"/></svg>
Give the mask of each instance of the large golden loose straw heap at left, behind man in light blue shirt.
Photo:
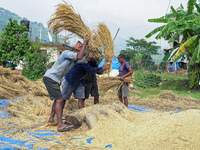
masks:
<svg viewBox="0 0 200 150"><path fill-rule="evenodd" d="M53 101L50 100L43 81L29 81L21 72L0 66L0 99L19 97L24 99L10 102L7 107L9 113L33 120L49 117ZM64 111L70 113L77 109L77 101L72 98L67 101Z"/></svg>

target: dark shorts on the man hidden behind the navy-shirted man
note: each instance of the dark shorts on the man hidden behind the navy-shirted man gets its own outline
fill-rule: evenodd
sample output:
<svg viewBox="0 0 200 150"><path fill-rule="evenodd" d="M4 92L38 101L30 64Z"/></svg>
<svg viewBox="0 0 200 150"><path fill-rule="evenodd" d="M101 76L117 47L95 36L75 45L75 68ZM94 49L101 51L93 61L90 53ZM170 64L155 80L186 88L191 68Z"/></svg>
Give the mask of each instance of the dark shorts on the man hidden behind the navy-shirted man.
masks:
<svg viewBox="0 0 200 150"><path fill-rule="evenodd" d="M99 96L98 85L96 81L85 81L85 98L88 99L90 94L91 96Z"/></svg>

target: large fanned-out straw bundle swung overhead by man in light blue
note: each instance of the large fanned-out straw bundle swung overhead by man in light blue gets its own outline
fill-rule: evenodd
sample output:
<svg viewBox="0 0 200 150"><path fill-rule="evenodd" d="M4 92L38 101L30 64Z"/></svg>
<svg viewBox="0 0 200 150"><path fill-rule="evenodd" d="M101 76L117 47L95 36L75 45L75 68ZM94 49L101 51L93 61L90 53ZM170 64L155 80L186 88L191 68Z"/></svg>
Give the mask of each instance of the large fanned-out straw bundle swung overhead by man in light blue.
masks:
<svg viewBox="0 0 200 150"><path fill-rule="evenodd" d="M88 42L87 50L88 54L100 57L99 46L95 44L93 39L93 33L85 25L81 16L75 13L74 8L67 2L63 1L65 4L58 4L56 12L52 15L52 18L48 21L48 27L53 30L54 34L58 34L61 31L69 31L78 37L84 39L86 35L91 37Z"/></svg>

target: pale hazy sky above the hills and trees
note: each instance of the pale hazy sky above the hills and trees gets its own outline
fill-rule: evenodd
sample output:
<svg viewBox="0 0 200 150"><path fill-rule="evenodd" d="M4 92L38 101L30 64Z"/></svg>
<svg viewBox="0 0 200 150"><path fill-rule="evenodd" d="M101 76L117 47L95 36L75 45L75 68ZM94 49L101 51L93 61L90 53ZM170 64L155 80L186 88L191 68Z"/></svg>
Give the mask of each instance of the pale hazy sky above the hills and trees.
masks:
<svg viewBox="0 0 200 150"><path fill-rule="evenodd" d="M149 23L148 19L165 15L170 0L68 0L87 24L110 22L121 28L119 36L144 38L161 24ZM187 7L188 0L171 0L170 6ZM8 9L30 21L46 26L55 6L62 0L0 0L0 7ZM170 8L168 12L170 11ZM112 35L115 33L112 32ZM151 38L150 40L154 40Z"/></svg>

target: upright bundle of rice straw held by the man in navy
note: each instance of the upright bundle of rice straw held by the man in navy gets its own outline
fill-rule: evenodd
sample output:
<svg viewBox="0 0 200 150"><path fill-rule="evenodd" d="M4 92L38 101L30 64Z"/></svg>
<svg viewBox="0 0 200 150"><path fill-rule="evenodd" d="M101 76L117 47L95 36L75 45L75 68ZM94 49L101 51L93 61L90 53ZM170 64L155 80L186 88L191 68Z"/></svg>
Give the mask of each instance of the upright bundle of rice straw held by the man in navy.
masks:
<svg viewBox="0 0 200 150"><path fill-rule="evenodd" d="M98 25L98 30L95 32L97 41L103 47L105 52L105 64L110 65L110 69L106 70L109 73L112 70L112 59L114 57L114 42L110 30L104 23Z"/></svg>

